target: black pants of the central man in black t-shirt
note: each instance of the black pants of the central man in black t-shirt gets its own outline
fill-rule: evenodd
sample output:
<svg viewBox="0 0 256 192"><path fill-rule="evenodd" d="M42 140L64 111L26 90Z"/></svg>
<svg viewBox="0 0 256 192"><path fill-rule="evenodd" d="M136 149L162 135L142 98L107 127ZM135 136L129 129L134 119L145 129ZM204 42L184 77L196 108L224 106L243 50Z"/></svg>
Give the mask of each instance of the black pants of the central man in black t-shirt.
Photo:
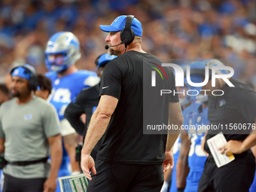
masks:
<svg viewBox="0 0 256 192"><path fill-rule="evenodd" d="M128 165L96 160L96 171L87 192L159 192L163 185L162 165Z"/></svg>

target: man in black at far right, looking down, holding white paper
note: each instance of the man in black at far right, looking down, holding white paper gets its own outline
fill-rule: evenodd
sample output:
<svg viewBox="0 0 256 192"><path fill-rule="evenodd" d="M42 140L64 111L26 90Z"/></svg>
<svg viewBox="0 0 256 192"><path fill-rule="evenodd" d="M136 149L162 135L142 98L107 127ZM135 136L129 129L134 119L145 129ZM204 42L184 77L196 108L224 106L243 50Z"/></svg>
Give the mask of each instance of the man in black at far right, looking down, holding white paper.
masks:
<svg viewBox="0 0 256 192"><path fill-rule="evenodd" d="M209 66L223 66L218 60L206 60L190 64L190 69L205 70ZM197 70L199 72L200 70ZM202 76L194 71L192 75ZM217 71L218 72L218 71ZM221 71L219 71L221 72ZM209 72L211 74L211 72ZM203 76L204 79L204 76ZM203 90L211 90L206 93L212 93L212 90L223 90L222 96L209 95L209 113L208 119L212 125L230 123L255 123L256 117L256 93L246 84L234 78L229 81L235 87L229 87L222 78L216 78L216 87L212 87L212 79L203 87ZM202 81L203 82L203 81ZM208 130L206 140L215 134L223 132L227 139L227 145L221 148L221 152L229 152L235 155L235 160L225 166L218 168L209 151L207 143L204 149L209 153L200 178L198 191L248 191L254 178L255 160L250 148L256 144L256 135L248 135L242 130ZM242 133L242 134L241 134Z"/></svg>

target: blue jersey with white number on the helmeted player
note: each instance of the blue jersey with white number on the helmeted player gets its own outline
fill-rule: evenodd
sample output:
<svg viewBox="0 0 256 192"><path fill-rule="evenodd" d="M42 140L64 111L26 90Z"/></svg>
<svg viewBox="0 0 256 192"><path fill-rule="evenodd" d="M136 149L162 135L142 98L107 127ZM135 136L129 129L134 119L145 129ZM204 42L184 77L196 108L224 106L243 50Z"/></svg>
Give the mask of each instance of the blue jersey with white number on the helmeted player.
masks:
<svg viewBox="0 0 256 192"><path fill-rule="evenodd" d="M53 90L48 101L56 108L59 120L64 118L66 107L72 99L78 96L81 90L99 83L99 78L96 77L96 73L86 70L81 70L62 78L58 78L56 72L48 72L45 76L50 78L53 84Z"/></svg>

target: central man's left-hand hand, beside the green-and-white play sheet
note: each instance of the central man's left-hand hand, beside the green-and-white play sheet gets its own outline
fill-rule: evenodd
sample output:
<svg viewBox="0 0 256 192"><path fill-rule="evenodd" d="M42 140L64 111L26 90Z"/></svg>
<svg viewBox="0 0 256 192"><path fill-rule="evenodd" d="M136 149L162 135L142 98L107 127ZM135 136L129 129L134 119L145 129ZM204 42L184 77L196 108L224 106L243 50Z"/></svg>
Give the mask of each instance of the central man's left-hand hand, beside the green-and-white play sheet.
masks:
<svg viewBox="0 0 256 192"><path fill-rule="evenodd" d="M81 169L84 175L92 181L92 176L90 175L90 169L92 169L93 175L96 175L95 163L93 157L89 154L81 154Z"/></svg>

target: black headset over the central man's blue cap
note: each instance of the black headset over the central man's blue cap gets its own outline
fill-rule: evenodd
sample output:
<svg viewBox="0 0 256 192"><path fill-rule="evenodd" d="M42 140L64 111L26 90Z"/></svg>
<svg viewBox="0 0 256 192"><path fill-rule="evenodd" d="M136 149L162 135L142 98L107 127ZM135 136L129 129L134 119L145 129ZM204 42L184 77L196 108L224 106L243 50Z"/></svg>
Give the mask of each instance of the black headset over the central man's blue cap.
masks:
<svg viewBox="0 0 256 192"><path fill-rule="evenodd" d="M125 26L120 33L121 41L124 42L125 47L127 47L127 45L131 44L135 37L133 29L132 29L133 18L134 18L133 15L127 15L126 20L125 20Z"/></svg>

